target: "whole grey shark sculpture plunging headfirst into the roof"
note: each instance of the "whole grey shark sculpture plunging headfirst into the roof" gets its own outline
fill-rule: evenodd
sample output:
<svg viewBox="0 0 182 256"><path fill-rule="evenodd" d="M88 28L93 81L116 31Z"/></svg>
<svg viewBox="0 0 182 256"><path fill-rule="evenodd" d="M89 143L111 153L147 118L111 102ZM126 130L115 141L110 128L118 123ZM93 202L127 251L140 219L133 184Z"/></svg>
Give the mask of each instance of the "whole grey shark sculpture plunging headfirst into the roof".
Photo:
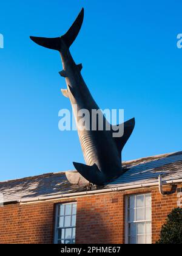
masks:
<svg viewBox="0 0 182 256"><path fill-rule="evenodd" d="M81 76L82 65L76 65L69 48L75 41L79 30L83 24L84 9L81 10L72 27L62 37L42 38L30 37L35 43L45 48L54 49L60 52L63 70L60 72L65 77L67 89L62 90L62 94L70 99L75 113L76 123L79 119L76 114L79 110L86 109L90 113L90 126L92 126L92 110L99 110L98 105L92 98L86 83ZM77 105L77 108L75 107ZM77 113L76 113L77 111ZM107 123L103 116L104 127ZM110 125L110 124L109 124ZM90 183L95 185L105 185L116 177L123 174L121 164L121 151L129 139L135 127L135 119L130 119L124 124L124 135L121 138L113 138L112 130L80 130L78 136L83 150L84 159L87 165L73 163L76 170Z"/></svg>

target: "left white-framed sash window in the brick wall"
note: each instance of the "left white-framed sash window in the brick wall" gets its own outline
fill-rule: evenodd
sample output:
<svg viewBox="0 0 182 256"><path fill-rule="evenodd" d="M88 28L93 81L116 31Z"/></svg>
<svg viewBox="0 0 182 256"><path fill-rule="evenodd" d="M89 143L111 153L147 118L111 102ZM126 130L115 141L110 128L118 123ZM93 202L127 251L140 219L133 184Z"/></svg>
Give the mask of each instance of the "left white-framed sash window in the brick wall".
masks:
<svg viewBox="0 0 182 256"><path fill-rule="evenodd" d="M76 203L56 205L55 244L75 244Z"/></svg>

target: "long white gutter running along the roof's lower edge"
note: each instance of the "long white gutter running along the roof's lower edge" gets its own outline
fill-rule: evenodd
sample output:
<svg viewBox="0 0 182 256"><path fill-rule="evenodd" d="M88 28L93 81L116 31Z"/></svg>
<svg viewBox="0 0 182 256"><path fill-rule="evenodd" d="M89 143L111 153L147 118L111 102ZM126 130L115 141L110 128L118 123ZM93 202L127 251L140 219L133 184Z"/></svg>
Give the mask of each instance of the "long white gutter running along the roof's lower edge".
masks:
<svg viewBox="0 0 182 256"><path fill-rule="evenodd" d="M169 180L164 181L163 185L174 185L177 183L182 183L182 179L177 180ZM93 194L105 194L105 193L111 193L111 192L117 192L117 191L124 191L124 190L135 190L138 188L148 188L148 187L156 187L158 186L158 182L150 182L150 183L143 183L138 185L132 185L132 186L126 186L126 187L114 187L114 188L106 188L103 190L92 190L92 191L83 191L83 192L76 192L76 193L70 193L70 194L59 194L56 196L40 196L40 197L34 197L31 199L20 199L20 200L13 200L13 201L5 201L4 205L7 204L25 204L25 203L33 203L33 202L42 202L42 201L52 201L56 199L62 199L62 198L70 198L70 197L79 197L79 196L90 196Z"/></svg>

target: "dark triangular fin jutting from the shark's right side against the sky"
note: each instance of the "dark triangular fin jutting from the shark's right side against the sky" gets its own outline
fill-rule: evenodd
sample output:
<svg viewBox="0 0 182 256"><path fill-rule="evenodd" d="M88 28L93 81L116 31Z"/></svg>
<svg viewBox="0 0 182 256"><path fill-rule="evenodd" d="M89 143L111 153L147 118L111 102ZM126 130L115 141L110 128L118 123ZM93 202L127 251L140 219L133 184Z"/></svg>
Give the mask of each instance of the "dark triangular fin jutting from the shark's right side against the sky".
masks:
<svg viewBox="0 0 182 256"><path fill-rule="evenodd" d="M124 129L124 133L122 137L115 137L113 140L116 143L116 146L118 148L119 153L121 154L121 151L124 148L124 145L127 143L127 140L129 140L130 136L132 135L133 129L135 128L135 118L130 119L129 121L120 124L121 129ZM120 128L120 126L112 126L113 130L116 131L116 128Z"/></svg>

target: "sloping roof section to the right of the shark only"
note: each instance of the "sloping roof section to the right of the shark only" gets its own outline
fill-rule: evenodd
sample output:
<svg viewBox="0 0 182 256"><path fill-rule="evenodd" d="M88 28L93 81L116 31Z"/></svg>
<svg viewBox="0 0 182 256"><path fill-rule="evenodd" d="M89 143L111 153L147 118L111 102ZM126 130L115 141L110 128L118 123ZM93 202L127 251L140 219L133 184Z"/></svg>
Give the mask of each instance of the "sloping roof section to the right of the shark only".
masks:
<svg viewBox="0 0 182 256"><path fill-rule="evenodd" d="M126 172L107 187L155 183L160 175L163 182L182 179L182 151L123 162L123 168Z"/></svg>

